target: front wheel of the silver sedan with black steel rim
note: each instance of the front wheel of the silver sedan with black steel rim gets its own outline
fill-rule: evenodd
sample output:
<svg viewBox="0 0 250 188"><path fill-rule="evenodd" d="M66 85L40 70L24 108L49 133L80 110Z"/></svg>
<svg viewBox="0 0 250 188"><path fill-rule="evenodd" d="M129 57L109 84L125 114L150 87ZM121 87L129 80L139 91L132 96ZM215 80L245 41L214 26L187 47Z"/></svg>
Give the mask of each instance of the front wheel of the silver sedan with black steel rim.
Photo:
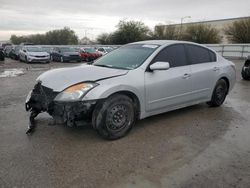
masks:
<svg viewBox="0 0 250 188"><path fill-rule="evenodd" d="M135 121L136 113L132 99L120 94L97 104L92 116L93 128L108 140L125 136Z"/></svg>

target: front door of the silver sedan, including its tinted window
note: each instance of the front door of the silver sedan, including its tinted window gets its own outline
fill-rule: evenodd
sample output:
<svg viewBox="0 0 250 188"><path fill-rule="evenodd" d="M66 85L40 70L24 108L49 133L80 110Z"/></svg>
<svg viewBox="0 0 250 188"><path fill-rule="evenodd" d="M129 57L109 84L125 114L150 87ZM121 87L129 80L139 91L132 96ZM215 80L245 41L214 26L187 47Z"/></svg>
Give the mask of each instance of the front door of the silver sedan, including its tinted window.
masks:
<svg viewBox="0 0 250 188"><path fill-rule="evenodd" d="M172 108L189 101L191 70L184 45L167 46L156 55L151 64L157 61L168 62L170 68L145 72L146 111Z"/></svg>

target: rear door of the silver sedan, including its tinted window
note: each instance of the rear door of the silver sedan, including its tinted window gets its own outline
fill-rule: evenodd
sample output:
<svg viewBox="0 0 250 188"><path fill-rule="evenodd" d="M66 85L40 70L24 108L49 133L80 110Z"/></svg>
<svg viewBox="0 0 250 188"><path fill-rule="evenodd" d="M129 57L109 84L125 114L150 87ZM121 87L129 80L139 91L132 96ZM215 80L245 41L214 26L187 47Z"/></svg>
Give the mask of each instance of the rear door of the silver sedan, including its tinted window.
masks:
<svg viewBox="0 0 250 188"><path fill-rule="evenodd" d="M210 99L218 79L220 67L211 50L193 44L185 44L192 72L193 100Z"/></svg>

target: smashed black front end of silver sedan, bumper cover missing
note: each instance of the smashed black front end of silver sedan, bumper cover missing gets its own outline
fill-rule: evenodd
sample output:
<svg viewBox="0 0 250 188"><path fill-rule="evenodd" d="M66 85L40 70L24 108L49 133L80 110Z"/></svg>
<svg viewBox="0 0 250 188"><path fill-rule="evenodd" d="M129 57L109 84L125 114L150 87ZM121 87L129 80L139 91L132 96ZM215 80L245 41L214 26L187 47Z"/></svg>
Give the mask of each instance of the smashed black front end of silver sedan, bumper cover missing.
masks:
<svg viewBox="0 0 250 188"><path fill-rule="evenodd" d="M83 121L91 122L96 100L59 102L54 100L58 94L59 92L42 86L40 82L29 92L25 102L26 111L31 112L27 133L33 132L35 128L34 118L42 112L51 115L55 122L64 123L70 127Z"/></svg>

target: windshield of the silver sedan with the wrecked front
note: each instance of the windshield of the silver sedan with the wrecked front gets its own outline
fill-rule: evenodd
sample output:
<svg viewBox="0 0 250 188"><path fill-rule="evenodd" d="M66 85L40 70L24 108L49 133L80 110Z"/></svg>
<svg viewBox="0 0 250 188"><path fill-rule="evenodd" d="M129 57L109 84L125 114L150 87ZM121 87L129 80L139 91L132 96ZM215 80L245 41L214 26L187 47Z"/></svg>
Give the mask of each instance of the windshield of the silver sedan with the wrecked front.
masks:
<svg viewBox="0 0 250 188"><path fill-rule="evenodd" d="M119 69L135 69L139 67L159 46L130 44L114 50L93 65Z"/></svg>

